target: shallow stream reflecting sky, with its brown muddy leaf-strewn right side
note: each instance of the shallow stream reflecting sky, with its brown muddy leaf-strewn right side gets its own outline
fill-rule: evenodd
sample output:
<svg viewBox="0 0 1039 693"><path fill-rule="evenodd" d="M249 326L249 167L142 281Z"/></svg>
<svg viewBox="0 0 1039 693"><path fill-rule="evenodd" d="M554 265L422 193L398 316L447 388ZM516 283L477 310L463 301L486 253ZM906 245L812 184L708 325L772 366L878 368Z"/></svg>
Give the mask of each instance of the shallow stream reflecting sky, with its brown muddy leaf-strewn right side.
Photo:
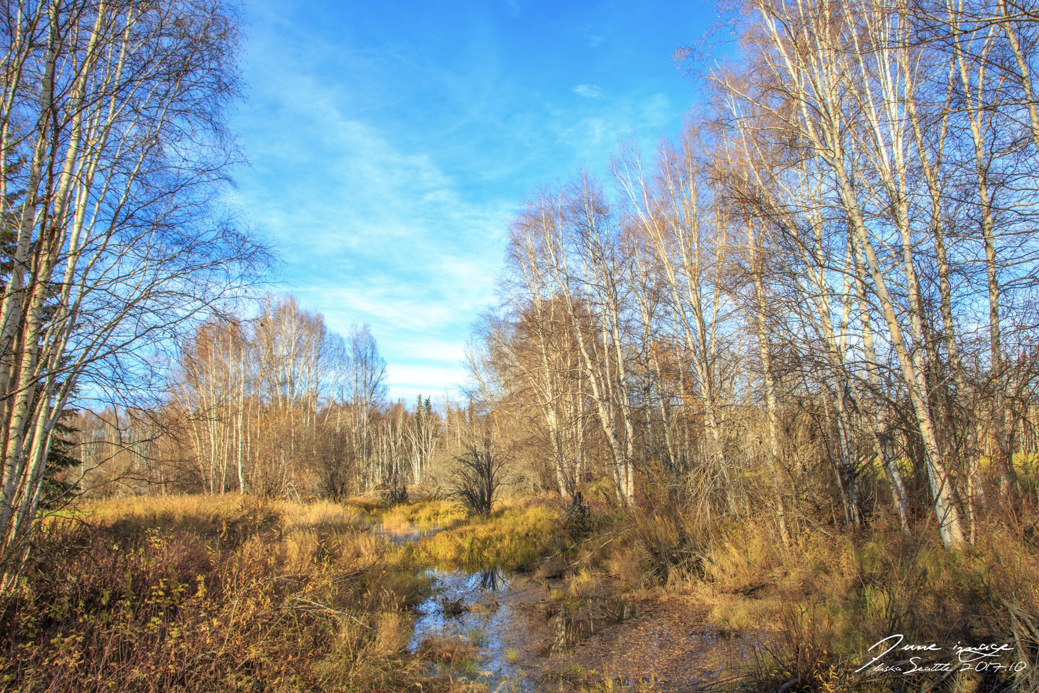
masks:
<svg viewBox="0 0 1039 693"><path fill-rule="evenodd" d="M378 533L403 543L437 531ZM561 598L558 581L498 567L431 567L425 574L432 588L417 607L409 649L464 642L470 655L460 666L451 664L452 675L496 692L570 690L569 683L589 670L620 687L646 681L647 672L649 678L656 674L661 690L700 690L729 675L731 662L761 643L756 634L712 628L682 603L609 594Z"/></svg>

